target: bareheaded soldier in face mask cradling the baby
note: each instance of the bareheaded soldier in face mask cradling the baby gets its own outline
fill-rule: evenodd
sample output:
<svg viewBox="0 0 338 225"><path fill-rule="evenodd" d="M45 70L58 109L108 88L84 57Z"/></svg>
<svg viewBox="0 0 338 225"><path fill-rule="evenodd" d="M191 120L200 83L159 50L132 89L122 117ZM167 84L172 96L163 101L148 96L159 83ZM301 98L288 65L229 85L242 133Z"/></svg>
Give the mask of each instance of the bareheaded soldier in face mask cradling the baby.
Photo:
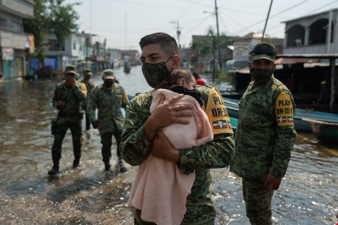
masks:
<svg viewBox="0 0 338 225"><path fill-rule="evenodd" d="M140 47L142 73L154 89L135 96L126 107L120 144L122 158L126 163L137 166L153 154L164 161L175 162L183 174L195 171L196 178L192 193L186 198L182 224L214 224L216 208L210 192L210 169L228 166L234 149L234 133L222 97L215 87L197 86L205 102L214 139L198 147L174 148L161 128L175 123L188 124L184 117L193 116L186 110L191 106L175 105L184 96L182 94L156 106L152 114L150 105L152 94L166 85L172 70L178 69L180 57L177 42L166 33L154 33L141 38ZM140 209L134 212L135 224L154 224L144 221L141 213Z"/></svg>

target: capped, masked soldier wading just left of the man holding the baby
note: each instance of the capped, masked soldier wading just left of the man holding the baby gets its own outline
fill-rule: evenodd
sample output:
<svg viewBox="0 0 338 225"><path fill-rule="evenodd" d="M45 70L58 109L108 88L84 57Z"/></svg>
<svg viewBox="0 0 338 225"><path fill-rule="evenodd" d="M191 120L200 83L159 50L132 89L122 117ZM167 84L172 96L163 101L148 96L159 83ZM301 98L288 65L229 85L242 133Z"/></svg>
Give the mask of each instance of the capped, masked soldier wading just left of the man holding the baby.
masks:
<svg viewBox="0 0 338 225"><path fill-rule="evenodd" d="M89 96L87 112L93 128L99 129L102 144L102 161L104 170L111 168L110 158L112 156L112 137L114 135L117 143L117 158L119 172L125 172L120 154L120 140L123 125L121 107L125 109L129 99L124 88L115 83L115 74L111 69L104 70L102 75L103 84L98 85ZM97 119L95 109L98 109Z"/></svg>

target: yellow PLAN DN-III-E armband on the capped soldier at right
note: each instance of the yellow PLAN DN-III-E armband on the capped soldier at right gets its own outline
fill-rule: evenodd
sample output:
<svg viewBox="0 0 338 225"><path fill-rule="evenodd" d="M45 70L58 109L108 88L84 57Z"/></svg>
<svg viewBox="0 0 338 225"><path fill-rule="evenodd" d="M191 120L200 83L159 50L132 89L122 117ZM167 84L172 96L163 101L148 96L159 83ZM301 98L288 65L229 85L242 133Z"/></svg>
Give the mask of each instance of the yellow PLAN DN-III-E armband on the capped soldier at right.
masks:
<svg viewBox="0 0 338 225"><path fill-rule="evenodd" d="M290 96L283 92L278 96L274 105L277 126L293 126L294 109Z"/></svg>

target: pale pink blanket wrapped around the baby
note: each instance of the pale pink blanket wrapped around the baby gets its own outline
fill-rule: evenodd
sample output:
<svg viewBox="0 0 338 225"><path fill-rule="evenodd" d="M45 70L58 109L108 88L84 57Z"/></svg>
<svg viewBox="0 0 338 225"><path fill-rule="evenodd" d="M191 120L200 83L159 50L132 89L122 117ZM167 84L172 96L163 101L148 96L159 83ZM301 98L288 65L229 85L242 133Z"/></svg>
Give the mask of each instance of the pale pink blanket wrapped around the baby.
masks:
<svg viewBox="0 0 338 225"><path fill-rule="evenodd" d="M178 95L167 89L153 93L150 112L165 101ZM177 149L192 148L214 139L208 117L195 98L185 95L176 104L191 104L194 114L188 125L172 124L163 129L165 136ZM165 118L163 118L165 119ZM180 224L186 212L185 202L195 181L195 172L182 174L176 163L156 158L153 154L143 161L137 172L128 206L141 210L141 218L158 225Z"/></svg>

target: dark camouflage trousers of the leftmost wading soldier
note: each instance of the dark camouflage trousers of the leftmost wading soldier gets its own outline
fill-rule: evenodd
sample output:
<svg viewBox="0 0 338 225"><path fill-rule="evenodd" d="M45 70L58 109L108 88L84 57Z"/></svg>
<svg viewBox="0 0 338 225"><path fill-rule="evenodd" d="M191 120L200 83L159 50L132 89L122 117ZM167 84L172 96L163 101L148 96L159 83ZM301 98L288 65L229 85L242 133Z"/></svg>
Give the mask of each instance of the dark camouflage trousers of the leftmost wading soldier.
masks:
<svg viewBox="0 0 338 225"><path fill-rule="evenodd" d="M65 134L68 128L70 128L72 133L74 158L80 159L81 136L82 136L81 126L82 126L81 119L72 122L65 121L64 119L58 119L54 134L54 143L52 146L53 162L58 162L61 159L62 141L64 141Z"/></svg>

